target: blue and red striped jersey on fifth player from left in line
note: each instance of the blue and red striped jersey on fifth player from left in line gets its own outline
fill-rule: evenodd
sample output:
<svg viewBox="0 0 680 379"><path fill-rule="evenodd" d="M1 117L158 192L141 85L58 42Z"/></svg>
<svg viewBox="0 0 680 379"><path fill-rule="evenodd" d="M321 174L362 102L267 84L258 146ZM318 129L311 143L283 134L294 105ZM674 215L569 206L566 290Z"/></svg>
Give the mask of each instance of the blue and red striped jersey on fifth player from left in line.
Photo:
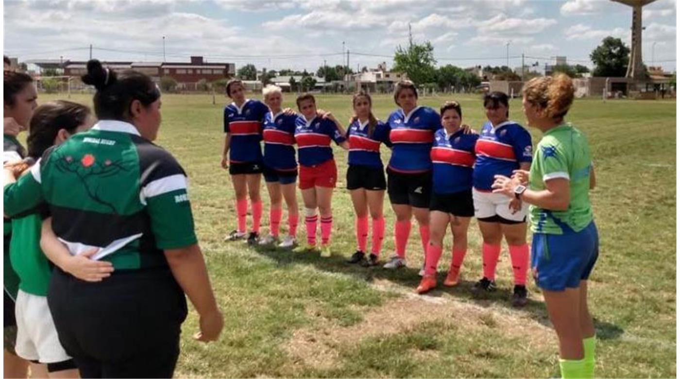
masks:
<svg viewBox="0 0 680 379"><path fill-rule="evenodd" d="M415 173L432 169L430 149L435 131L441 129L437 111L416 107L409 114L398 109L388 118L392 156L390 169Z"/></svg>

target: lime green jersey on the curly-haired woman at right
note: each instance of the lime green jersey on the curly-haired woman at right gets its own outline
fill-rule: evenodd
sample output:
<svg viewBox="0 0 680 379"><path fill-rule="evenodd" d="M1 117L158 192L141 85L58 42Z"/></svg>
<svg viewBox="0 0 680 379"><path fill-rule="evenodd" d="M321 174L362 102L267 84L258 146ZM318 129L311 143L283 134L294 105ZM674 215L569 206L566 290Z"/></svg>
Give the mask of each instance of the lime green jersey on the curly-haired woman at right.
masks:
<svg viewBox="0 0 680 379"><path fill-rule="evenodd" d="M590 208L590 170L592 159L588 141L571 124L550 129L543 135L534 153L529 174L532 191L545 190L545 182L555 178L569 180L569 208L566 211L530 207L534 233L562 234L581 231L593 220Z"/></svg>

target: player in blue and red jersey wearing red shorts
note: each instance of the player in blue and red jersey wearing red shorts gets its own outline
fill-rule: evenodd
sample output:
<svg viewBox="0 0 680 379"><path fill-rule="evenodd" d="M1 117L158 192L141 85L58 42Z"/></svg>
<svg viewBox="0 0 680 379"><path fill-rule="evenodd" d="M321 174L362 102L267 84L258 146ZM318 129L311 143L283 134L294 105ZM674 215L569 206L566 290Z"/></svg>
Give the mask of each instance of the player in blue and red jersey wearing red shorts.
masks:
<svg viewBox="0 0 680 379"><path fill-rule="evenodd" d="M321 256L330 257L330 231L333 212L330 210L333 188L337 182L337 166L333 159L331 140L347 150L345 131L333 114L316 110L313 95L305 93L296 100L302 116L295 121L295 142L300 162L300 189L305 203L307 245L295 251L316 250L317 208L321 214Z"/></svg>

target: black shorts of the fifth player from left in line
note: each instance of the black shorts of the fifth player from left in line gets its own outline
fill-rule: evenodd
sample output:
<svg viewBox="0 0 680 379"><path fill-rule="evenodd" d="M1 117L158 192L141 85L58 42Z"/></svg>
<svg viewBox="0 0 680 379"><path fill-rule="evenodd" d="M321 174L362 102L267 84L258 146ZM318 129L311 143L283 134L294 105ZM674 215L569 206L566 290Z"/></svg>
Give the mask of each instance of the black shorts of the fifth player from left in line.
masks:
<svg viewBox="0 0 680 379"><path fill-rule="evenodd" d="M387 193L390 203L429 208L432 193L432 171L419 174L403 174L388 167Z"/></svg>

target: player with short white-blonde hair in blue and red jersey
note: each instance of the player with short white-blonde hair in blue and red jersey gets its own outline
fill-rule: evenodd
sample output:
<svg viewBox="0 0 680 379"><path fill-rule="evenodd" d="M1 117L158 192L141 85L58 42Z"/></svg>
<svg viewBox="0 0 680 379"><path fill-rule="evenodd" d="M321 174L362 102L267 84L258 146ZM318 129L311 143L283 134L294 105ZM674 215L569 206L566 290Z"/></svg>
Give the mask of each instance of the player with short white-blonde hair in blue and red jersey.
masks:
<svg viewBox="0 0 680 379"><path fill-rule="evenodd" d="M295 193L297 162L295 161L295 120L296 114L288 114L281 108L283 96L281 87L269 85L262 89L265 103L271 112L264 121L262 137L265 139L265 182L269 191L269 235L260 240L260 245L273 243L279 237L281 223L281 200L286 199L288 207L288 235L279 244L291 248L295 244L298 225L298 204ZM283 196L282 196L283 195Z"/></svg>

